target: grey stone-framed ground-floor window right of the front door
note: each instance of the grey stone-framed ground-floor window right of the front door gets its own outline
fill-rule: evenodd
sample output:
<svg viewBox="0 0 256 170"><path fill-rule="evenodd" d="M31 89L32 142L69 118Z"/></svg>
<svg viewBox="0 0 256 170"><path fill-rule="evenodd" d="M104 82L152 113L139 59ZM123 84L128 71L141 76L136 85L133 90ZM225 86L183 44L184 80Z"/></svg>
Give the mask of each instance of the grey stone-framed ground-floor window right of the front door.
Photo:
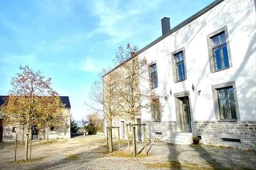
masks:
<svg viewBox="0 0 256 170"><path fill-rule="evenodd" d="M212 87L217 120L236 121L238 119L238 103L235 82L217 84Z"/></svg>

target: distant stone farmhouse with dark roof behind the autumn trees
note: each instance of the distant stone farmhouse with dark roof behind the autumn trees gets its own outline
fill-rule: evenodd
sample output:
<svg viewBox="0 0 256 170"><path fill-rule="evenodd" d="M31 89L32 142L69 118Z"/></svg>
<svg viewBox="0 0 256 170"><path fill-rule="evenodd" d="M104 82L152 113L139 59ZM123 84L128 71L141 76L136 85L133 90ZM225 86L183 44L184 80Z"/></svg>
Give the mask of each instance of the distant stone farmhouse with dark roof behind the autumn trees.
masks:
<svg viewBox="0 0 256 170"><path fill-rule="evenodd" d="M0 96L0 106L4 104L4 99L8 96ZM60 99L63 104L65 105L65 108L63 109L63 114L66 115L67 120L66 123L62 126L54 127L52 126L49 133L49 139L58 139L58 138L70 138L70 119L71 119L71 113L70 113L70 103L69 103L69 97L68 96L60 96ZM46 130L45 129L38 129L37 125L31 127L32 132L32 139L46 139ZM4 120L1 116L0 111L0 141L12 141L14 140L14 134L15 133L22 133L21 126L10 126L5 125ZM21 135L18 135L18 140L21 140Z"/></svg>

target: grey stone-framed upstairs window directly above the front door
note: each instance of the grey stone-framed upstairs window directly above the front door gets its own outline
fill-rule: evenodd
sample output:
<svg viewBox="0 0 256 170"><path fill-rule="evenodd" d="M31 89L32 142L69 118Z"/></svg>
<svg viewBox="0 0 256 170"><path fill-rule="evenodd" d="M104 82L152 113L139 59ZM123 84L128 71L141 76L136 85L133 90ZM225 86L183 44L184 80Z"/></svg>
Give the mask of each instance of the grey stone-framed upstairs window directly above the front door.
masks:
<svg viewBox="0 0 256 170"><path fill-rule="evenodd" d="M174 82L186 80L185 48L180 48L172 53Z"/></svg>

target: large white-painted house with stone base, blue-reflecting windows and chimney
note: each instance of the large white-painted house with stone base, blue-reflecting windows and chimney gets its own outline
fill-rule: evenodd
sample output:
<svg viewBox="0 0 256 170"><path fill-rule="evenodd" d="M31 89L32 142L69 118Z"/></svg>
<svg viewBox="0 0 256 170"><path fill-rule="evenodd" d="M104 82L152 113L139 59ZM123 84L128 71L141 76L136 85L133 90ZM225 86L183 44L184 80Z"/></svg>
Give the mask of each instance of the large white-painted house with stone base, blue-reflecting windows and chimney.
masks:
<svg viewBox="0 0 256 170"><path fill-rule="evenodd" d="M255 16L253 0L218 0L172 29L161 20L162 36L136 54L150 63L152 86L142 86L169 94L162 113L137 119L148 138L256 149ZM125 133L128 122L115 123Z"/></svg>

